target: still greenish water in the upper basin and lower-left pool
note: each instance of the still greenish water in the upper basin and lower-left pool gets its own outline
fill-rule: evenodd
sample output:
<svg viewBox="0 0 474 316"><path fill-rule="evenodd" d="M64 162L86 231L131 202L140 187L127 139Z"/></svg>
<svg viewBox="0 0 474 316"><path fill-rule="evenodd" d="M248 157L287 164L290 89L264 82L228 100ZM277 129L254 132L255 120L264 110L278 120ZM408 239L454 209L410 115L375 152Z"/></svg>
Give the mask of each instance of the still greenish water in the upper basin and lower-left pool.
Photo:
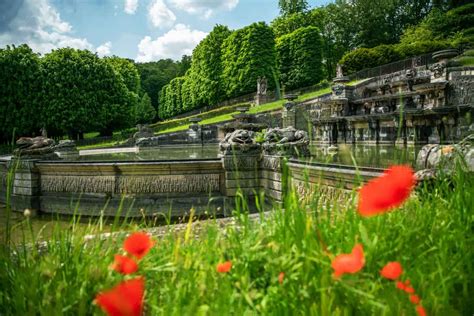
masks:
<svg viewBox="0 0 474 316"><path fill-rule="evenodd" d="M368 146L368 145L339 145L327 147L311 145L311 157L304 158L314 162L344 164L363 167L383 168L393 164L409 164L414 166L419 147L404 146ZM218 145L207 146L169 146L155 149L141 149L137 153L113 153L80 156L80 161L149 161L149 160L188 160L188 159L214 159L218 156ZM75 229L97 229L97 219L82 219L74 225ZM109 221L110 222L110 221ZM10 226L12 227L12 240L21 242L26 234L26 239L31 240L31 230L36 239L49 239L54 231L72 229L71 218L56 215L42 215L25 220L22 213L13 212ZM6 212L0 208L0 242L3 241L6 226ZM102 231L110 231L111 224L103 223Z"/></svg>

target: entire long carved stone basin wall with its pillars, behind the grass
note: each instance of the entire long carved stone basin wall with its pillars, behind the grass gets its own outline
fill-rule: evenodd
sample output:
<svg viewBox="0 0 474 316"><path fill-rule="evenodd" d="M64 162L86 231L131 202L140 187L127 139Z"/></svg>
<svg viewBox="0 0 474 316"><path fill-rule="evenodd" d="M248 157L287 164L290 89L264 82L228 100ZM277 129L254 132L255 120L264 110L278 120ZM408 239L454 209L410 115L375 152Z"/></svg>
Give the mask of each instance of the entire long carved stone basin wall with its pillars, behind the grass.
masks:
<svg viewBox="0 0 474 316"><path fill-rule="evenodd" d="M290 159L288 178L283 172L284 159L254 152L174 162L28 160L16 165L10 202L17 211L29 208L69 215L180 217L189 214L192 207L197 215L205 211L229 215L238 197L246 199L254 210L255 195L264 197L260 203L281 203L288 185L295 186L302 195L319 188L329 197L339 198L347 196L359 180L366 181L382 172L362 168L356 176L350 167ZM6 203L7 168L13 165L0 161L2 203Z"/></svg>

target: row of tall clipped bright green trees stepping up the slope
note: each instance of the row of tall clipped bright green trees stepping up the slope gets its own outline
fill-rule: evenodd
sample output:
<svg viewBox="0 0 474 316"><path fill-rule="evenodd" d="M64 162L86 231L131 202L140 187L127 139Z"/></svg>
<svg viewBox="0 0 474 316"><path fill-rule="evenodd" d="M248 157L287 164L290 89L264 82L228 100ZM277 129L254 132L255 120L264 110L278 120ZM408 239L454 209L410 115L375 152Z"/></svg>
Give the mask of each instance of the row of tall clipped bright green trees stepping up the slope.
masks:
<svg viewBox="0 0 474 316"><path fill-rule="evenodd" d="M194 49L186 75L161 89L158 115L170 118L252 93L260 77L266 77L272 89L275 74L278 80L276 68L274 35L265 23L254 23L234 32L217 25Z"/></svg>

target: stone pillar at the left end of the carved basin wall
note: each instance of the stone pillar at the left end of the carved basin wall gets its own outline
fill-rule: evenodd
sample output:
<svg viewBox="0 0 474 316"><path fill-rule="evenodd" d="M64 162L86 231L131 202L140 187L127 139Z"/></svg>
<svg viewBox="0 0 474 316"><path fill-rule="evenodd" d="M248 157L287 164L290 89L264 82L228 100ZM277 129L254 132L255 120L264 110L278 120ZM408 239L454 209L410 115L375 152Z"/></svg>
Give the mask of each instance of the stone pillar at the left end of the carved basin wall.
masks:
<svg viewBox="0 0 474 316"><path fill-rule="evenodd" d="M13 172L11 206L16 211L29 209L35 214L40 209L41 182L36 168L39 159L12 158L9 172Z"/></svg>

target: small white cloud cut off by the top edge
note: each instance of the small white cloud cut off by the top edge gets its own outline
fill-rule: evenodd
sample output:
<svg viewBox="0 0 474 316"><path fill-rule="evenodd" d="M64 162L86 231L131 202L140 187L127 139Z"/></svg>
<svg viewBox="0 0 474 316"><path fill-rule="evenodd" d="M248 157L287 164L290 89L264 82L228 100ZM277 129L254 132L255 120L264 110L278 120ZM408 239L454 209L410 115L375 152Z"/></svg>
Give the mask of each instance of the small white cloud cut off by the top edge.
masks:
<svg viewBox="0 0 474 316"><path fill-rule="evenodd" d="M216 11L231 11L239 0L170 0L177 9L189 14L202 14L204 18L210 18Z"/></svg>

